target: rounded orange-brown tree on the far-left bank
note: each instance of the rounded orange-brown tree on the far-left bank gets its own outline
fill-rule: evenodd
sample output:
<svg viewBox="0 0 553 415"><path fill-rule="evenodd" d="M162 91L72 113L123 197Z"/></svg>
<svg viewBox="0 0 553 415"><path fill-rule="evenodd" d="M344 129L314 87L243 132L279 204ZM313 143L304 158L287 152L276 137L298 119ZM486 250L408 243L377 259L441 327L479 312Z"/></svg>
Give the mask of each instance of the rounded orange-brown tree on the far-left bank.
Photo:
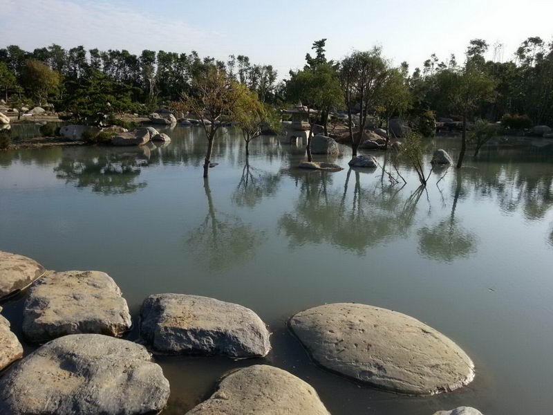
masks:
<svg viewBox="0 0 553 415"><path fill-rule="evenodd" d="M41 105L48 95L57 91L60 75L37 59L27 59L21 73L21 84Z"/></svg>

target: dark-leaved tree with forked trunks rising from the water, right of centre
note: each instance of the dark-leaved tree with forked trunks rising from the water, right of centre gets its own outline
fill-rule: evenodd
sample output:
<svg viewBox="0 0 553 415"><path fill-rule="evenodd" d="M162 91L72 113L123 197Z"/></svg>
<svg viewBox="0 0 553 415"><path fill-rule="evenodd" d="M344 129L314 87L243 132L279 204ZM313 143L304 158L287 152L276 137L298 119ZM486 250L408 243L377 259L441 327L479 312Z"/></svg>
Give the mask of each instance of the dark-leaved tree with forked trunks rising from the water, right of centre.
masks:
<svg viewBox="0 0 553 415"><path fill-rule="evenodd" d="M353 157L362 141L368 110L377 104L388 73L388 64L382 58L381 50L373 48L366 52L354 52L340 63L341 90L348 107L350 138ZM352 109L359 103L359 126L357 135L353 134Z"/></svg>

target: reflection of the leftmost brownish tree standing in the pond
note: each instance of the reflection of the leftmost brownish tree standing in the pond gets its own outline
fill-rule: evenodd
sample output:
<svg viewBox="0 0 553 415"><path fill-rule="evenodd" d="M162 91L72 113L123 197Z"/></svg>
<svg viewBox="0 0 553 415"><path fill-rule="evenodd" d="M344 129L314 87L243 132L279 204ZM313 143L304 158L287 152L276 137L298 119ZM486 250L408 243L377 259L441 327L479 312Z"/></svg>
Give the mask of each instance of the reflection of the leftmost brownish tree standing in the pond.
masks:
<svg viewBox="0 0 553 415"><path fill-rule="evenodd" d="M223 270L252 256L265 232L243 223L238 216L217 212L208 178L204 179L204 190L207 214L198 228L189 233L187 245L210 269Z"/></svg>

